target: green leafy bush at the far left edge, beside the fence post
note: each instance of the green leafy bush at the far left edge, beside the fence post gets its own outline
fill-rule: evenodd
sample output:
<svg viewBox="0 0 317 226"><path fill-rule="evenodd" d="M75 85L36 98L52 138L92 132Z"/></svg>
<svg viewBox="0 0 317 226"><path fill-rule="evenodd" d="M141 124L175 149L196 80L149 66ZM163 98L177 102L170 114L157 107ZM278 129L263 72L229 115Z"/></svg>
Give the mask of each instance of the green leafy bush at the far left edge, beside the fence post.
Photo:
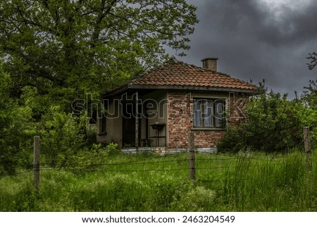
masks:
<svg viewBox="0 0 317 226"><path fill-rule="evenodd" d="M30 108L19 106L10 95L12 88L11 77L0 64L0 175L12 175L18 165L32 164L32 148L28 149L33 132Z"/></svg>

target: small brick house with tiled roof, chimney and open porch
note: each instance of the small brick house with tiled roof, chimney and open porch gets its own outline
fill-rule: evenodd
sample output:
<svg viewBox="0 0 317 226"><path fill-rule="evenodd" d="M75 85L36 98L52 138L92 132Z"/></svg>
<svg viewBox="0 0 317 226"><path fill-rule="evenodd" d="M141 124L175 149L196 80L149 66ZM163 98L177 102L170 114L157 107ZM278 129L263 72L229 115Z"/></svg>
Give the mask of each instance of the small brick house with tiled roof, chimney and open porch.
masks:
<svg viewBox="0 0 317 226"><path fill-rule="evenodd" d="M216 151L230 124L258 87L217 71L218 58L203 68L175 58L148 70L104 96L106 115L97 120L97 142L121 148L185 151L194 131L197 151Z"/></svg>

